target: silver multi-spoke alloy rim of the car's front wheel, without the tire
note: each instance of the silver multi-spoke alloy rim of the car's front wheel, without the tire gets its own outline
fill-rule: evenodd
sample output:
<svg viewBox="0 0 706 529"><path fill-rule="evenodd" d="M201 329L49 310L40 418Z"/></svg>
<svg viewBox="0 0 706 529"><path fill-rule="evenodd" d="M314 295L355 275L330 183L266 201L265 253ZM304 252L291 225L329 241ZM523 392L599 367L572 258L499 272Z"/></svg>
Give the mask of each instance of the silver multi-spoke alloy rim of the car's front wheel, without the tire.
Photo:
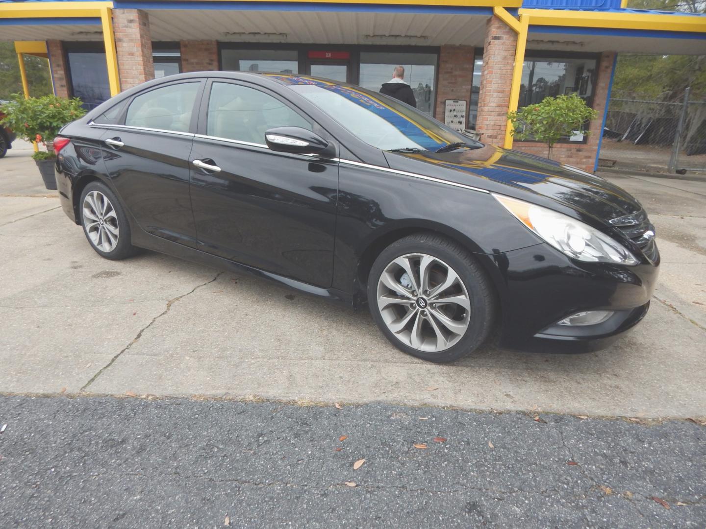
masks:
<svg viewBox="0 0 706 529"><path fill-rule="evenodd" d="M438 353L468 329L470 298L453 268L433 255L410 253L390 262L378 280L378 309L397 339Z"/></svg>

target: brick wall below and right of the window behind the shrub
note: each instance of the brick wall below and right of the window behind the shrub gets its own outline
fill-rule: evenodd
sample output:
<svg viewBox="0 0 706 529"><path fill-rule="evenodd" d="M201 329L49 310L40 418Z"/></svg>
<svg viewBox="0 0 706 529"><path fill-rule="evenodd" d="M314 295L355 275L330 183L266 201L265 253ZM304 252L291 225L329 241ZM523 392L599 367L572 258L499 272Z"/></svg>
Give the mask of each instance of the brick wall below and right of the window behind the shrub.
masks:
<svg viewBox="0 0 706 529"><path fill-rule="evenodd" d="M584 171L592 172L596 162L596 152L601 139L601 126L603 125L603 114L608 104L608 86L611 82L611 71L613 71L613 61L616 53L614 51L604 51L598 61L598 72L596 77L596 87L593 95L593 109L597 111L596 118L588 126L590 134L585 143L561 142L555 143L551 149L551 158L557 162L573 165ZM546 157L546 144L538 142L517 141L513 143L513 149L537 154Z"/></svg>

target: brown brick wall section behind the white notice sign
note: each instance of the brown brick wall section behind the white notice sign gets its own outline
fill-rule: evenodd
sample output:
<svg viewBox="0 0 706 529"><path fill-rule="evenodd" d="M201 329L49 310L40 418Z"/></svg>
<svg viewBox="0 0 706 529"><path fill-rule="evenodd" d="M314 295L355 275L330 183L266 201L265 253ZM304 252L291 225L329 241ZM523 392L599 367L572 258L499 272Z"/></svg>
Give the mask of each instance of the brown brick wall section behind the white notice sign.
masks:
<svg viewBox="0 0 706 529"><path fill-rule="evenodd" d="M439 52L438 87L436 89L436 112L434 117L444 121L445 99L463 99L466 111L473 85L472 46L442 46ZM467 124L466 124L467 126Z"/></svg>

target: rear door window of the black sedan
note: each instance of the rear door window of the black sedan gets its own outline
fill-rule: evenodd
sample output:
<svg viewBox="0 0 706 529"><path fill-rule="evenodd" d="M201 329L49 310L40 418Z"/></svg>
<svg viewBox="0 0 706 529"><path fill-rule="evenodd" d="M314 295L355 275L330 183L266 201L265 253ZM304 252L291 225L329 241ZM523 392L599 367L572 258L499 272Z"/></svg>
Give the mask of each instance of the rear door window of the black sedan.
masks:
<svg viewBox="0 0 706 529"><path fill-rule="evenodd" d="M132 100L125 124L188 132L199 83L180 83L138 95Z"/></svg>

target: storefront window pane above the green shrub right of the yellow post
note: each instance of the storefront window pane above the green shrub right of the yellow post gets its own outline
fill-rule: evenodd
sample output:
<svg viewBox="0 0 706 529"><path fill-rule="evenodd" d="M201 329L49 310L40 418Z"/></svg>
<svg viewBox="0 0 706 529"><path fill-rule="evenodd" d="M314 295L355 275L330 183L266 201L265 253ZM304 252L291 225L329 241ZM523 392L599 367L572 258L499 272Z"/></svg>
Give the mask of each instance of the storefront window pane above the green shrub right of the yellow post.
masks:
<svg viewBox="0 0 706 529"><path fill-rule="evenodd" d="M576 93L586 104L593 101L596 59L528 59L522 64L519 107L545 97Z"/></svg>

